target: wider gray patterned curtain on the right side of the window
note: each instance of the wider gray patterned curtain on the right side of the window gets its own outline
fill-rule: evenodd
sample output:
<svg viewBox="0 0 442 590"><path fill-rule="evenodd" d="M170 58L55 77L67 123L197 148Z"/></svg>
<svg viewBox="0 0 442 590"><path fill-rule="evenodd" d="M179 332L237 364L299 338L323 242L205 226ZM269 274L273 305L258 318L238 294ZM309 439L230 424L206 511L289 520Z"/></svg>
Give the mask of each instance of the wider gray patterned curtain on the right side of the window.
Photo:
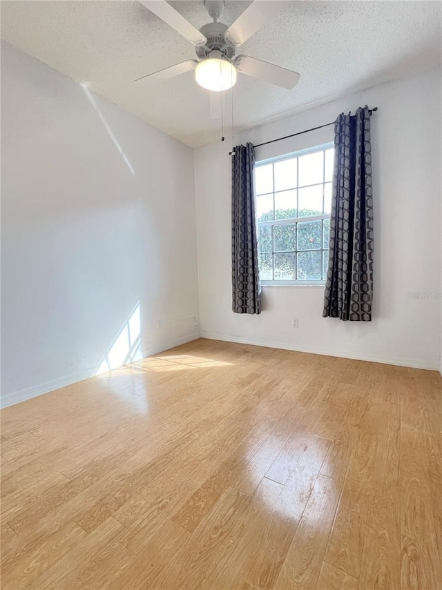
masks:
<svg viewBox="0 0 442 590"><path fill-rule="evenodd" d="M341 113L334 124L329 267L323 317L372 319L373 191L370 113Z"/></svg>

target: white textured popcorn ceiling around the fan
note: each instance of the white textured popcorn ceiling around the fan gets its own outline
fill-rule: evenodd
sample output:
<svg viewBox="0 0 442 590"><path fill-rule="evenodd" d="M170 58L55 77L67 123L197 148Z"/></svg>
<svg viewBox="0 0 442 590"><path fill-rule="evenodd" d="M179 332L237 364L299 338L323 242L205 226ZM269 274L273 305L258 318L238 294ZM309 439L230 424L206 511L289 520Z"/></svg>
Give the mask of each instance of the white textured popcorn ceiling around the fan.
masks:
<svg viewBox="0 0 442 590"><path fill-rule="evenodd" d="M222 22L249 3L227 1ZM210 21L202 2L171 4L198 28ZM294 69L300 82L283 90L240 75L236 128L441 63L441 12L439 1L285 2L240 52ZM220 137L193 72L148 89L132 83L195 57L136 1L1 1L1 37L189 146Z"/></svg>

